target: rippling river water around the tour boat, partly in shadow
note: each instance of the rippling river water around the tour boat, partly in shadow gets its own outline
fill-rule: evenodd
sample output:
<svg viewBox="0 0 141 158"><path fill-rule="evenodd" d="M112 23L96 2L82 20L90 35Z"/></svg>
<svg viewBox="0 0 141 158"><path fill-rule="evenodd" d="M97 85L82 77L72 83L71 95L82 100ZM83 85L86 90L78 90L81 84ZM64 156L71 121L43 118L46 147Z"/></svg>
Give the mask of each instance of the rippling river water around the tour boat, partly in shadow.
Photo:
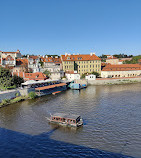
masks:
<svg viewBox="0 0 141 158"><path fill-rule="evenodd" d="M78 129L50 113L80 114ZM141 158L141 84L89 86L0 109L0 158Z"/></svg>

